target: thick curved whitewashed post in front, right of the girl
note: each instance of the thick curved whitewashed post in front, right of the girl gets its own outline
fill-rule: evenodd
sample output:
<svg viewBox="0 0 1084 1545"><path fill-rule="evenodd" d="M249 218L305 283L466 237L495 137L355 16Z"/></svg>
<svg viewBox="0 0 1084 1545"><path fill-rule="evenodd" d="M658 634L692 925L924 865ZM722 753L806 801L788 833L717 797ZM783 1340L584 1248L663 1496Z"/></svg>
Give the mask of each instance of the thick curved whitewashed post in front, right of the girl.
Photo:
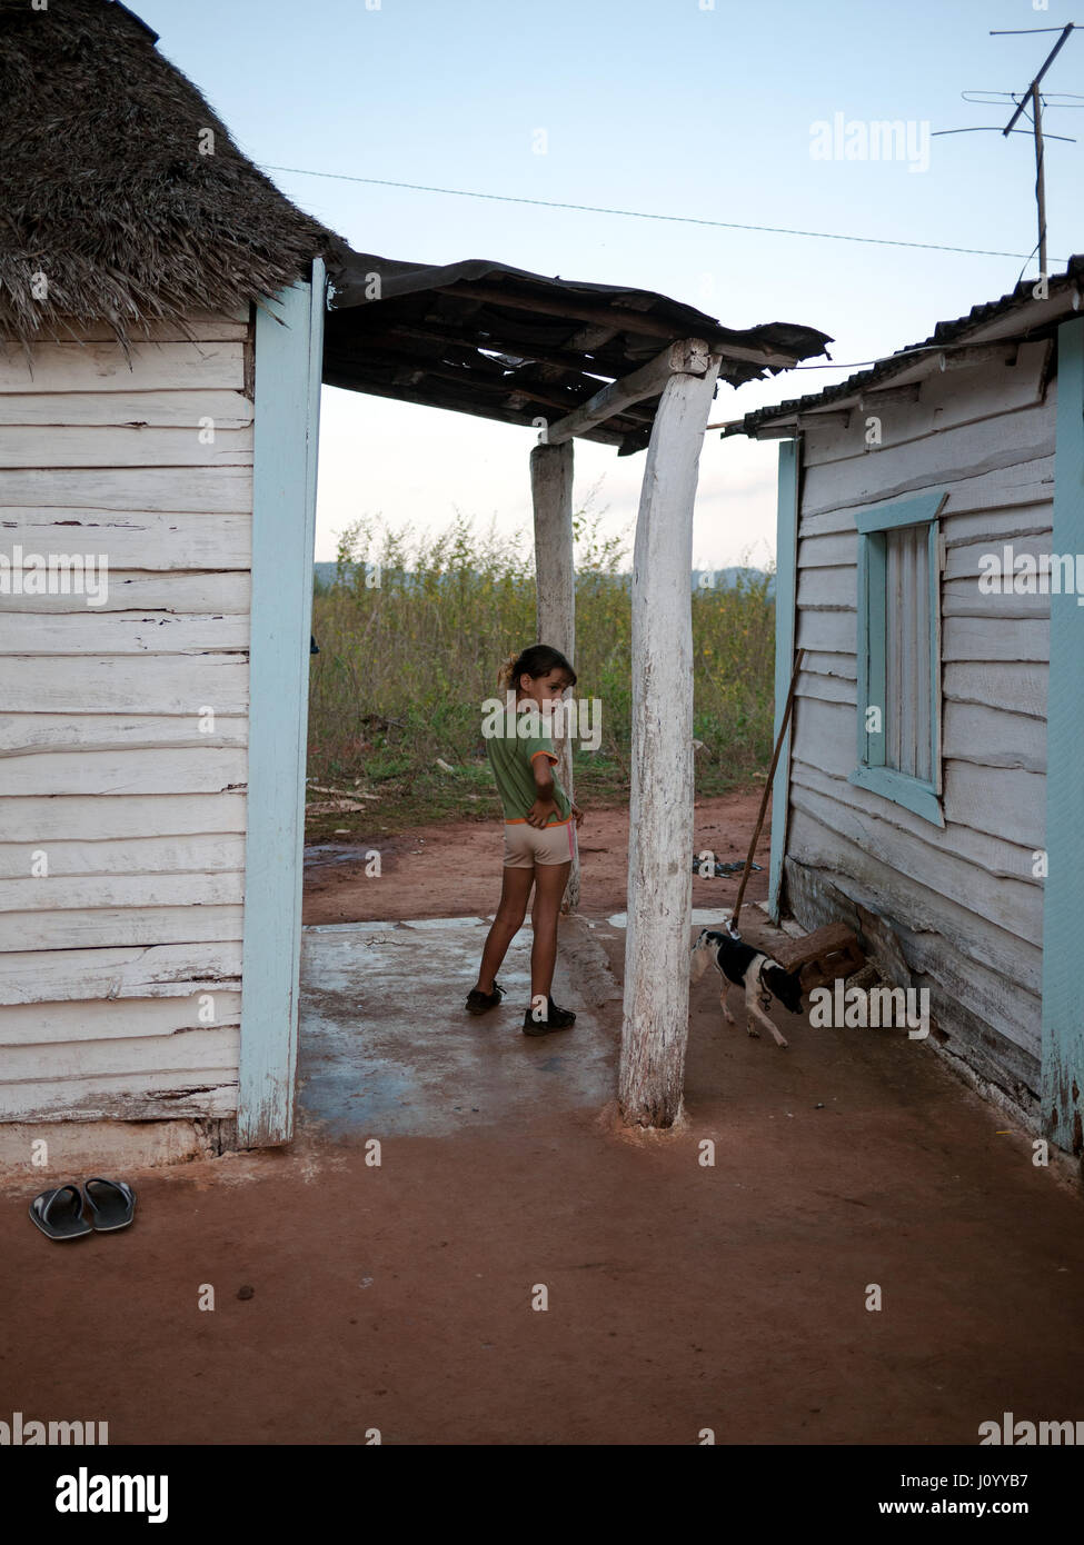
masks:
<svg viewBox="0 0 1084 1545"><path fill-rule="evenodd" d="M691 340L663 388L632 556L632 796L619 1103L626 1125L682 1112L693 912L693 501L719 355Z"/></svg>

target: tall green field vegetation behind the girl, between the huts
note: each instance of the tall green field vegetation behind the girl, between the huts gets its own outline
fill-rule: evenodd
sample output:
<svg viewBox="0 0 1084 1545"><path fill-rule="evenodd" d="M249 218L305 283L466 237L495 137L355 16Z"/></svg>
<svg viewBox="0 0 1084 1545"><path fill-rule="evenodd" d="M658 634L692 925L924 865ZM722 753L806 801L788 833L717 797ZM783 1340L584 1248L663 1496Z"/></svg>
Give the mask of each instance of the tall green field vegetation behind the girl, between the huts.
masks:
<svg viewBox="0 0 1084 1545"><path fill-rule="evenodd" d="M574 521L578 681L569 695L602 703L600 749L574 742L575 797L585 810L626 803L629 794L631 596L622 572L631 533L602 539L597 525L598 516L585 511ZM693 734L704 742L694 756L697 796L767 771L770 584L770 573L752 572L733 587L693 592ZM516 544L464 516L428 541L357 521L340 538L336 579L315 587L312 632L320 654L309 678L309 837L499 819L479 708L498 695L504 657L538 641L530 538ZM312 810L339 794L363 810Z"/></svg>

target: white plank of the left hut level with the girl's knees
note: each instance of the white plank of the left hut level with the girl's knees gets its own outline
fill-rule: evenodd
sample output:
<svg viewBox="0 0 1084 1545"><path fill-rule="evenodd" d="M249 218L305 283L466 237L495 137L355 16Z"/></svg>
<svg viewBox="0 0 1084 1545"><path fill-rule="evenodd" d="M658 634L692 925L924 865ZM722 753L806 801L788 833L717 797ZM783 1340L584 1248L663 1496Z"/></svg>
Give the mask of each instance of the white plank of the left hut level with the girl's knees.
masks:
<svg viewBox="0 0 1084 1545"><path fill-rule="evenodd" d="M240 939L241 932L241 907L94 907L87 912L0 913L0 950L19 953L124 949L130 944L223 944Z"/></svg>

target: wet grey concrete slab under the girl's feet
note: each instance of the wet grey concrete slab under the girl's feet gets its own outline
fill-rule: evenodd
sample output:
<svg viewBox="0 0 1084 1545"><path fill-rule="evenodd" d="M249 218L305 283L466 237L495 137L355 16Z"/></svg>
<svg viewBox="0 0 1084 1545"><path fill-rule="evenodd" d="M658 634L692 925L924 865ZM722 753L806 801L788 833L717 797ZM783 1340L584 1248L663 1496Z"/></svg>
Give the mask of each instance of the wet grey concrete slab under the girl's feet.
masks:
<svg viewBox="0 0 1084 1545"><path fill-rule="evenodd" d="M530 929L498 972L506 997L464 1012L492 918L346 922L303 930L298 1105L331 1139L379 1129L447 1136L540 1108L602 1106L612 1095L617 1001L605 952L583 918L563 918L554 998L571 1031L523 1034Z"/></svg>

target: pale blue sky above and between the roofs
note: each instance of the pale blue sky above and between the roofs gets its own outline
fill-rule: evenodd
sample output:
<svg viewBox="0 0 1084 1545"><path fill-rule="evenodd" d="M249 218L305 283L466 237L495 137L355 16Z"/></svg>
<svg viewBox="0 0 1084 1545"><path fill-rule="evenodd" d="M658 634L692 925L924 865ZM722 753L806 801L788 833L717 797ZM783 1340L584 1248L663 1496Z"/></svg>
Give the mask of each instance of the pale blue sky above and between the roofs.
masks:
<svg viewBox="0 0 1084 1545"><path fill-rule="evenodd" d="M370 9L373 6L373 9ZM963 90L1022 91L1055 34L991 28L1079 20L1031 0L131 0L159 51L204 91L264 167L422 182L798 230L979 247L974 256L503 204L271 173L356 249L410 261L496 258L540 273L639 284L727 326L799 321L849 365L926 337L1011 289L1036 243L1028 136L932 139L908 161L813 159L810 127L903 119L1002 127L1011 108ZM1044 82L1084 93L1084 34ZM1027 127L1024 124L1022 127ZM1084 250L1084 116L1053 105L1050 267ZM538 153L543 145L544 153ZM915 133L920 133L915 128ZM841 380L796 371L735 392L713 419ZM530 530L533 433L325 388L317 558L356 514L438 530L453 507ZM597 485L605 528L631 530L643 454L577 440L577 496ZM770 443L708 434L694 561L775 548Z"/></svg>

